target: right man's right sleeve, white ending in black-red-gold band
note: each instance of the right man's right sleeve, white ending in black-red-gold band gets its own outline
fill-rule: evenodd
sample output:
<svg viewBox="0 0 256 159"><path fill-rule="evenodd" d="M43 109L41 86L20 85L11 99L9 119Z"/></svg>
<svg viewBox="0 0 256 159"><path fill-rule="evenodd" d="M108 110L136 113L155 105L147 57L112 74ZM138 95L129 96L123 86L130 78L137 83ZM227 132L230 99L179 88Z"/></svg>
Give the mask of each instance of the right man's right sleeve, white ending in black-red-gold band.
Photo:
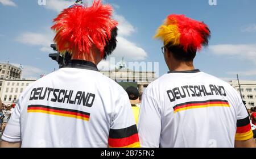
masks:
<svg viewBox="0 0 256 159"><path fill-rule="evenodd" d="M248 112L245 105L243 104L241 98L238 104L238 114L237 114L237 132L236 138L237 141L246 141L253 137L253 131L251 131L251 124Z"/></svg>

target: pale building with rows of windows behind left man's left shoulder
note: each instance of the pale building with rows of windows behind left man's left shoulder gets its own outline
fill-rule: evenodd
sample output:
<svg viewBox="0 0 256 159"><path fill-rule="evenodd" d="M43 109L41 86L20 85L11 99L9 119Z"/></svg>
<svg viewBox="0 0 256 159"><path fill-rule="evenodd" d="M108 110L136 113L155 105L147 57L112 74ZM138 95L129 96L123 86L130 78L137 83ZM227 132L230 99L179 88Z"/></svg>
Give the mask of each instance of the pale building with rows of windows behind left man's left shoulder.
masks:
<svg viewBox="0 0 256 159"><path fill-rule="evenodd" d="M26 89L26 87L35 81L36 79L28 79L28 78L17 79L17 80L11 80L11 79L4 80L2 85L2 91L0 94L2 103L4 104L15 103L18 100L19 95L22 94L22 92Z"/></svg>

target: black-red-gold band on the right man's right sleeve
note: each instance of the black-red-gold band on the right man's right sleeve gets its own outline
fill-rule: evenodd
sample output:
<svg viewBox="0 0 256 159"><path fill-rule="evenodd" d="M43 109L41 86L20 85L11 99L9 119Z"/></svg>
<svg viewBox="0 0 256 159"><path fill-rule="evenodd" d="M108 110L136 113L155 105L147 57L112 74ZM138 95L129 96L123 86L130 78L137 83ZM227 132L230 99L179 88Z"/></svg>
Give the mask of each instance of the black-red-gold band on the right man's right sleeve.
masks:
<svg viewBox="0 0 256 159"><path fill-rule="evenodd" d="M250 118L247 116L245 119L237 120L237 141L249 140L253 137L253 131L251 131Z"/></svg>

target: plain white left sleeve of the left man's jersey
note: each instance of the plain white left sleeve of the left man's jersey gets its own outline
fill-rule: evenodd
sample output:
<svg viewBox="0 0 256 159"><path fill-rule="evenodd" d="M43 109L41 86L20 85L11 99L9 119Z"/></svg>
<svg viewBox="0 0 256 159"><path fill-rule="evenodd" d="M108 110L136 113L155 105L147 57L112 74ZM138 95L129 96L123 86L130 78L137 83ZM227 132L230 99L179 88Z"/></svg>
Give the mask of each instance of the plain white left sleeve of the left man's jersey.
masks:
<svg viewBox="0 0 256 159"><path fill-rule="evenodd" d="M20 137L20 99L14 108L13 114L3 132L2 140L15 143L21 141Z"/></svg>

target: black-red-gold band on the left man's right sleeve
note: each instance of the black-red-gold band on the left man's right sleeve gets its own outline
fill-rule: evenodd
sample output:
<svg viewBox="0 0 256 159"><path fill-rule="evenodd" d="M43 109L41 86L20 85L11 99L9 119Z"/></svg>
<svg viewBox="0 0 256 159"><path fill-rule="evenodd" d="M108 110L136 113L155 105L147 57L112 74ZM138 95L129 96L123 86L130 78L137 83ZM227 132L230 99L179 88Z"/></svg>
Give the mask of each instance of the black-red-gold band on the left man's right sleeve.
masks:
<svg viewBox="0 0 256 159"><path fill-rule="evenodd" d="M140 147L137 126L132 125L123 129L110 129L108 141L110 148Z"/></svg>

